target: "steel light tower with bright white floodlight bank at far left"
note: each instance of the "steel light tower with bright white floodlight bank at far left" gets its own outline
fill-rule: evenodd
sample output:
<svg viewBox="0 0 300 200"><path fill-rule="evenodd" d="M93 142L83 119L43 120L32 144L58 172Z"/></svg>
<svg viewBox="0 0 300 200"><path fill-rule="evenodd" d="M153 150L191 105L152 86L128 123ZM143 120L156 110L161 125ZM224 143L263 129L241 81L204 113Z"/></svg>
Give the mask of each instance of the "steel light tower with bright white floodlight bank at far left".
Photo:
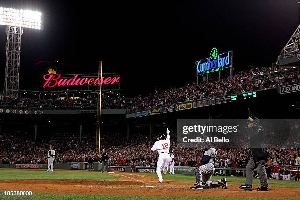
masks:
<svg viewBox="0 0 300 200"><path fill-rule="evenodd" d="M0 7L0 25L6 25L4 95L18 97L21 35L23 28L41 29L42 13Z"/></svg>

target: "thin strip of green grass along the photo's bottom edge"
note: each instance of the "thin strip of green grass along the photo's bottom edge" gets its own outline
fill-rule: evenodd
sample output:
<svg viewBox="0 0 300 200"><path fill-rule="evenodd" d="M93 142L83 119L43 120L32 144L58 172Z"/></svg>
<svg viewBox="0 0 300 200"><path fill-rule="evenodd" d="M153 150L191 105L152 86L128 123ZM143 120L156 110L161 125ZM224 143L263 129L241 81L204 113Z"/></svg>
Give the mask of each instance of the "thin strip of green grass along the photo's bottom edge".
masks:
<svg viewBox="0 0 300 200"><path fill-rule="evenodd" d="M1 198L8 200L9 198ZM57 195L33 194L32 197L18 197L14 200L220 200L220 197L153 197L153 196L123 196L123 195ZM297 198L232 198L222 197L222 200L297 200Z"/></svg>

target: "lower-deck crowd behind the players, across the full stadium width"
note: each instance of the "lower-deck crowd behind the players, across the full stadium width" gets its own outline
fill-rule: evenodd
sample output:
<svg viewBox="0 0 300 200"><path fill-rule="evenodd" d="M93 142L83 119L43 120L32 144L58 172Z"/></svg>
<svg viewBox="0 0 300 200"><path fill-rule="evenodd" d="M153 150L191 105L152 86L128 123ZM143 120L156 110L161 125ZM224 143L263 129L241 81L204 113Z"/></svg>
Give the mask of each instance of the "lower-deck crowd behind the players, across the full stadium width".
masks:
<svg viewBox="0 0 300 200"><path fill-rule="evenodd" d="M104 136L101 141L103 141L101 149L109 153L111 166L155 166L157 163L157 153L150 153L153 141L145 136L137 136L133 140L126 141L121 134L110 134ZM54 145L56 150L55 163L84 162L89 156L94 157L95 162L98 161L95 142L92 140L79 142L47 139L35 142L29 134L20 131L0 133L0 160L7 164L47 164L50 145ZM175 166L200 164L202 149L182 148L171 140L170 150L175 155ZM270 158L267 165L270 175L275 166L300 165L300 149L273 148L268 149L268 152ZM248 154L249 149L218 149L218 154L214 158L215 168L245 168ZM101 162L101 158L99 161ZM219 173L222 174L222 171Z"/></svg>

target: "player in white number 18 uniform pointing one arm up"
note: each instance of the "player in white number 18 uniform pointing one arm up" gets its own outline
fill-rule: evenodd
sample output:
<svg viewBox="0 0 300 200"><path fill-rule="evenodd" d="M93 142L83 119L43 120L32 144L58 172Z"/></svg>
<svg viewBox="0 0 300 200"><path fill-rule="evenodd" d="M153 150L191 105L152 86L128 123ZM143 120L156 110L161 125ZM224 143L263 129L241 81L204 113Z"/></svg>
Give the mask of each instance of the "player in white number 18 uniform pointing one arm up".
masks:
<svg viewBox="0 0 300 200"><path fill-rule="evenodd" d="M169 148L170 148L170 131L167 129L167 137L164 134L160 134L157 137L157 141L154 143L153 147L151 148L151 152L155 150L158 151L159 157L157 161L156 173L158 176L158 182L163 183L163 178L161 175L161 171L164 168L166 171L166 166L169 165L170 156L169 156Z"/></svg>

